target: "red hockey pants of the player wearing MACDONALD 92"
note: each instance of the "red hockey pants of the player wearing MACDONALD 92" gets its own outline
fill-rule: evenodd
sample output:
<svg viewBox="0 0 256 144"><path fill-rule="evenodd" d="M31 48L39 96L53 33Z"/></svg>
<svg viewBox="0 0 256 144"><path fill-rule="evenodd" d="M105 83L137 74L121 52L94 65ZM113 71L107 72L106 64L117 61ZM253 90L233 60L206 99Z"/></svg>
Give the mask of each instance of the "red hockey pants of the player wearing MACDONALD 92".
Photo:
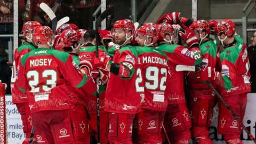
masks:
<svg viewBox="0 0 256 144"><path fill-rule="evenodd" d="M134 119L133 143L162 143L162 124L165 111L142 109Z"/></svg>

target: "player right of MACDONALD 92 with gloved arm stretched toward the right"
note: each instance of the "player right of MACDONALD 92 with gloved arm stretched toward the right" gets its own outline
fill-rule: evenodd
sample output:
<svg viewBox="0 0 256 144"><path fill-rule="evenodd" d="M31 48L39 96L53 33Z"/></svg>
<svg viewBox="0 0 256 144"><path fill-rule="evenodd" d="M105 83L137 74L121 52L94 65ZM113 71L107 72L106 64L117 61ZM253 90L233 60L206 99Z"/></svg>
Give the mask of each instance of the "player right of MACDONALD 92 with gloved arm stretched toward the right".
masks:
<svg viewBox="0 0 256 144"><path fill-rule="evenodd" d="M161 23L158 29L158 47L166 53L169 59L171 71L170 80L167 81L166 93L168 95L168 106L165 114L164 126L167 133L174 134L174 143L188 143L190 139L191 120L186 106L185 92L183 89L182 71L175 71L177 65L199 65L202 62L198 39L193 31L181 24L181 38L187 42L188 47L178 44L171 44L173 37L173 27L169 23ZM189 41L189 39L191 41ZM168 88L169 87L169 88Z"/></svg>

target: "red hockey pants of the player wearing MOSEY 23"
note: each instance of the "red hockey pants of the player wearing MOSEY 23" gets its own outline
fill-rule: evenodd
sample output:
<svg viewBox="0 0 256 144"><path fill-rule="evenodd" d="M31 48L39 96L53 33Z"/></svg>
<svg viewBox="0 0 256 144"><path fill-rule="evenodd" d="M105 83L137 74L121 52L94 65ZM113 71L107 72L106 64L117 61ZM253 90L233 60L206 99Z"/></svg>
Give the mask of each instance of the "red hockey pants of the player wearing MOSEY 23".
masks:
<svg viewBox="0 0 256 144"><path fill-rule="evenodd" d="M37 143L90 143L88 118L83 105L65 110L43 110L31 114Z"/></svg>

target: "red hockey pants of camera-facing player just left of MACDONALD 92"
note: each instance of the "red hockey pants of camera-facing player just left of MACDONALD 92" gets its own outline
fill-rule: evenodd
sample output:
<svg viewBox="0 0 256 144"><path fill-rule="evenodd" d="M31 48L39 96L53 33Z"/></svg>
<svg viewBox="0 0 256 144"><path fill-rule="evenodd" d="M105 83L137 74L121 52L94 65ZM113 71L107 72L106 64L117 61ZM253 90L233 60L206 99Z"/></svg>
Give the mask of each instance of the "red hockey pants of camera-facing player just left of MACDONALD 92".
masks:
<svg viewBox="0 0 256 144"><path fill-rule="evenodd" d="M108 139L110 144L132 144L134 114L108 112Z"/></svg>

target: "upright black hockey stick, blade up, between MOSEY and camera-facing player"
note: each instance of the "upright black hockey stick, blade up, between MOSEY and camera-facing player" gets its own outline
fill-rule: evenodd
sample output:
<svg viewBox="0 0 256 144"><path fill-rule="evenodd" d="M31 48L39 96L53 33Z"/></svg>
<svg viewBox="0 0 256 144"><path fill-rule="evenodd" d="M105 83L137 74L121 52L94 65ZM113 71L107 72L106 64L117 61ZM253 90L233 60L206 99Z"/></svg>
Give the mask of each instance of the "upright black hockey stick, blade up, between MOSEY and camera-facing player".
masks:
<svg viewBox="0 0 256 144"><path fill-rule="evenodd" d="M108 15L111 15L114 13L114 7L111 6L109 7L107 10L105 10L104 12L102 12L99 16L99 18L97 18L96 22L95 22L95 31L96 31L96 45L95 45L95 49L96 49L96 54L95 57L99 58L99 26L100 23L103 19L106 19L108 17ZM97 82L99 81L99 78L97 78ZM99 96L99 85L97 84L97 92L96 92L96 96L97 96L97 141L98 143L100 143L100 96Z"/></svg>

